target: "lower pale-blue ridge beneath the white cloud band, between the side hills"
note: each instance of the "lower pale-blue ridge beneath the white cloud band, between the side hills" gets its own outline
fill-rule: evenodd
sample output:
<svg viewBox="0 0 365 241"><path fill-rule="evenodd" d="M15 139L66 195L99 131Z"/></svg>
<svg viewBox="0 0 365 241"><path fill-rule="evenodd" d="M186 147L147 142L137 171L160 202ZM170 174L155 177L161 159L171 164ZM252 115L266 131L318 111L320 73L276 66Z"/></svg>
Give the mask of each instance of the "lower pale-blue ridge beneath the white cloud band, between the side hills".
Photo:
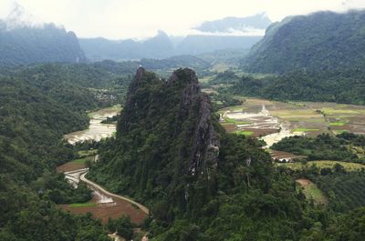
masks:
<svg viewBox="0 0 365 241"><path fill-rule="evenodd" d="M199 55L221 49L248 49L262 36L188 35L177 39L159 31L145 41L80 38L79 44L91 61L166 58L173 55Z"/></svg>

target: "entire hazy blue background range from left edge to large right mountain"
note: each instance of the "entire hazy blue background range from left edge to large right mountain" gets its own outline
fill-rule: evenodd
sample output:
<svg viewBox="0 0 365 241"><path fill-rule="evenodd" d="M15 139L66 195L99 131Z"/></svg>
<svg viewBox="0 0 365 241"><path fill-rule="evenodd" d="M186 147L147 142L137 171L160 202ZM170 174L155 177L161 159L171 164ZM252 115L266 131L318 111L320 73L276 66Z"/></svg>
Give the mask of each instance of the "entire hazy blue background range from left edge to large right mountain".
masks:
<svg viewBox="0 0 365 241"><path fill-rule="evenodd" d="M228 17L201 25L201 33L187 36L157 35L137 41L79 38L54 24L35 24L20 5L0 20L0 65L34 63L79 63L101 60L163 59L174 55L200 55L224 49L249 49L261 35L225 35L235 29L248 31L265 28L271 21L266 15ZM207 28L210 26L211 30ZM214 34L203 32L214 32ZM222 33L218 33L222 32Z"/></svg>

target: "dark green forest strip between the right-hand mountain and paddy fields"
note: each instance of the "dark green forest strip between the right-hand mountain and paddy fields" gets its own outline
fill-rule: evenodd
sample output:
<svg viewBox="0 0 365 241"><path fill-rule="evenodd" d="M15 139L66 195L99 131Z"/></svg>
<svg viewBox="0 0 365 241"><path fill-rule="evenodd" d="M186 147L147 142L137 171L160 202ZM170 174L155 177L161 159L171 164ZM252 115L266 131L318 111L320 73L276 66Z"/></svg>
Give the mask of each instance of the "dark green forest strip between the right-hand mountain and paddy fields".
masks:
<svg viewBox="0 0 365 241"><path fill-rule="evenodd" d="M364 77L363 71L356 69L294 71L264 78L245 75L225 91L235 95L259 96L280 101L328 101L365 105Z"/></svg>

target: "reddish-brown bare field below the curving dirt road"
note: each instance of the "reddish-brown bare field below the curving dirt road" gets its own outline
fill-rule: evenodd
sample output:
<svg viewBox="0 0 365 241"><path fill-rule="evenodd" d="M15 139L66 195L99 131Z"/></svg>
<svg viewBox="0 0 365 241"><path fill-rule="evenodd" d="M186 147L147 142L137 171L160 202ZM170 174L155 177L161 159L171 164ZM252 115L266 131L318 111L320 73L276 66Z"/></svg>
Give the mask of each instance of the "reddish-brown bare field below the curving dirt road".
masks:
<svg viewBox="0 0 365 241"><path fill-rule="evenodd" d="M78 206L59 205L61 209L72 214L88 214L93 217L100 218L103 224L108 223L109 218L119 218L121 216L130 216L133 224L141 225L147 215L138 207L132 206L129 202L113 197L114 202L111 204L98 204L97 198L93 197L90 201L96 206Z"/></svg>

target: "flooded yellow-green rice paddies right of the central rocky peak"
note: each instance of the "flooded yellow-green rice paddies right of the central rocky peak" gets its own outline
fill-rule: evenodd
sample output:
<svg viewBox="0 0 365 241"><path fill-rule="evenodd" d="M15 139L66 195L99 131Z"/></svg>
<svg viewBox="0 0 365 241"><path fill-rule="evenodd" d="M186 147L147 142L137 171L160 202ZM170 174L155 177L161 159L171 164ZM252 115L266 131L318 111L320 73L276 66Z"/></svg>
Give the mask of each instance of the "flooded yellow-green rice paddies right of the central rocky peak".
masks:
<svg viewBox="0 0 365 241"><path fill-rule="evenodd" d="M293 135L336 135L344 131L365 135L363 105L247 98L243 105L226 107L220 114L228 132L252 132L251 136L255 137L280 132L283 128Z"/></svg>

